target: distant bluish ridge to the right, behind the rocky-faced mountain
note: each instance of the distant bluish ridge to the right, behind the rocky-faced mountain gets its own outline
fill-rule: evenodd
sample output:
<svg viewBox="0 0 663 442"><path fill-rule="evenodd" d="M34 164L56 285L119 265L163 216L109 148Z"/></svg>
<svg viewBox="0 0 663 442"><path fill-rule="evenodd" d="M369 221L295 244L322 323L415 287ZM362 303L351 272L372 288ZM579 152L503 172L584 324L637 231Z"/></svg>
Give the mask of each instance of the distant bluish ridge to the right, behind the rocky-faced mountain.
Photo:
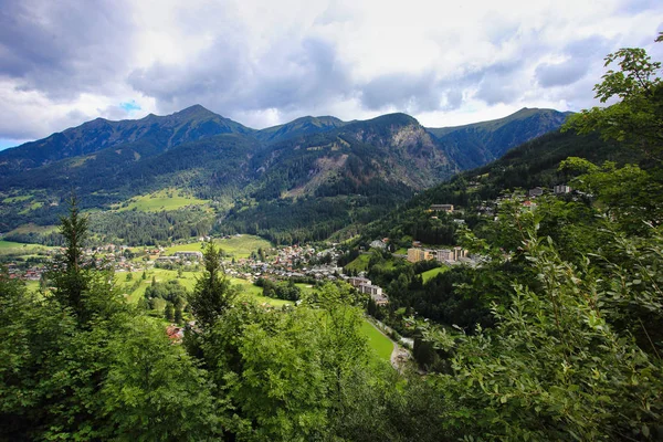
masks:
<svg viewBox="0 0 663 442"><path fill-rule="evenodd" d="M557 130L568 112L524 107L507 117L464 126L429 128L462 169L485 165L508 149Z"/></svg>

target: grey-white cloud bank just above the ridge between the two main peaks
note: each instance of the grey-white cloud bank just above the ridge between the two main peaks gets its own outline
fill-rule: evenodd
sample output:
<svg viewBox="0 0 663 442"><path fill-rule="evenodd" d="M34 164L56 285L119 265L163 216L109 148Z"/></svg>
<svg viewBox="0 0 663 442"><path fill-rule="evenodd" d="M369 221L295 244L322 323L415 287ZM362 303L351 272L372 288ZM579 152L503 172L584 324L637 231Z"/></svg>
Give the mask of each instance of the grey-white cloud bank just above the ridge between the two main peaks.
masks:
<svg viewBox="0 0 663 442"><path fill-rule="evenodd" d="M155 63L134 71L134 90L155 97L159 108L177 110L200 103L224 115L278 108L287 112L333 99L351 90L347 66L334 45L308 38L274 42L254 56L248 44L219 36L186 66Z"/></svg>

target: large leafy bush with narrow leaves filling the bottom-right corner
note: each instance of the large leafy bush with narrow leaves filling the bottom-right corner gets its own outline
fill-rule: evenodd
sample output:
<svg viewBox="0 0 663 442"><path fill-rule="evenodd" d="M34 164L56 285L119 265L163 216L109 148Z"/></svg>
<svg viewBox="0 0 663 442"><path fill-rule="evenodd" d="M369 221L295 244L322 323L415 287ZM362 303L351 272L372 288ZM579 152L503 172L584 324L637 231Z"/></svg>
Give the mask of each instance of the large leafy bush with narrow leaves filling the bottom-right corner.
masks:
<svg viewBox="0 0 663 442"><path fill-rule="evenodd" d="M495 330L455 346L454 375L439 380L463 407L448 422L487 440L646 439L660 424L661 359L611 325L590 260L564 262L534 236L525 249L540 290L514 284L509 306L493 307Z"/></svg>

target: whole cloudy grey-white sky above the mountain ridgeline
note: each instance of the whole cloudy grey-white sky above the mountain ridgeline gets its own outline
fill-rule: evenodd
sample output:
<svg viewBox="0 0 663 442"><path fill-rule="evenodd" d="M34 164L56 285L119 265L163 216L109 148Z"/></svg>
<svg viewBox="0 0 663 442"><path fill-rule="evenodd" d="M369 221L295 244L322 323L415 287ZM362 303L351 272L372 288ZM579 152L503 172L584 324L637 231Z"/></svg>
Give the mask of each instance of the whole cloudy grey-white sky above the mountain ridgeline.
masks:
<svg viewBox="0 0 663 442"><path fill-rule="evenodd" d="M659 31L659 0L0 0L0 148L197 103L254 128L578 110Z"/></svg>

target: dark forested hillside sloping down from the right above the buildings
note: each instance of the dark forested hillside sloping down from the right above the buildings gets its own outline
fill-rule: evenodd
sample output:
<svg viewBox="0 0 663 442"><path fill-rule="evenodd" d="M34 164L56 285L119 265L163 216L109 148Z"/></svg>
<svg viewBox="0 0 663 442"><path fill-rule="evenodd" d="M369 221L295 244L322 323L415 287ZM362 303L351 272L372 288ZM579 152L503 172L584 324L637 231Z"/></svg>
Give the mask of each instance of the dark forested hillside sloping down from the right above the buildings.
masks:
<svg viewBox="0 0 663 442"><path fill-rule="evenodd" d="M409 241L414 239L429 244L440 243L434 240L440 236L435 230L436 220L433 221L427 214L431 204L453 204L464 210L464 218L472 225L476 222L478 207L491 206L490 201L499 198L504 191L566 185L569 177L557 169L568 157L586 158L594 164L640 162L646 167L646 161L634 150L613 141L604 141L597 135L549 133L511 149L495 161L465 170L446 182L420 192L398 211L369 223L364 229L362 241L408 235ZM453 223L450 224L453 227Z"/></svg>

